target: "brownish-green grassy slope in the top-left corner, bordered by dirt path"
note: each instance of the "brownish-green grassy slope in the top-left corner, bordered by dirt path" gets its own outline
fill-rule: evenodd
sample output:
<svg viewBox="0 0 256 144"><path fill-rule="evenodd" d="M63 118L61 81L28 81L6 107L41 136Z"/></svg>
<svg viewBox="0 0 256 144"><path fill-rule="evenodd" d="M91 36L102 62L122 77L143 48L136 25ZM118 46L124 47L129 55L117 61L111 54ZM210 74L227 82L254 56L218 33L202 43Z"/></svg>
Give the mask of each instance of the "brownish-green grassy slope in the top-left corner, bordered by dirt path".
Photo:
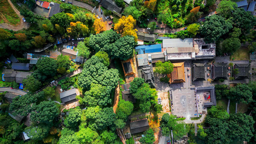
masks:
<svg viewBox="0 0 256 144"><path fill-rule="evenodd" d="M7 0L0 0L0 23L19 24L20 18Z"/></svg>

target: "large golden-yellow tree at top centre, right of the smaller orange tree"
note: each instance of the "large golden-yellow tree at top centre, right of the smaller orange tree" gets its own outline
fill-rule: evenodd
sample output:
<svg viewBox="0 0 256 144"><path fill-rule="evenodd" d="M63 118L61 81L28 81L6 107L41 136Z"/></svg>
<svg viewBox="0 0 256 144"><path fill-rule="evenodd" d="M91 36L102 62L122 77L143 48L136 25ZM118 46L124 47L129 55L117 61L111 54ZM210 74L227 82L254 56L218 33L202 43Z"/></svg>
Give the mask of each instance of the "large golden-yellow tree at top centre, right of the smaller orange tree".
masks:
<svg viewBox="0 0 256 144"><path fill-rule="evenodd" d="M115 24L114 30L116 30L118 33L122 33L122 36L134 36L135 42L137 42L138 36L136 31L137 29L134 29L134 26L136 24L136 20L131 16L122 16L118 20L118 23Z"/></svg>

